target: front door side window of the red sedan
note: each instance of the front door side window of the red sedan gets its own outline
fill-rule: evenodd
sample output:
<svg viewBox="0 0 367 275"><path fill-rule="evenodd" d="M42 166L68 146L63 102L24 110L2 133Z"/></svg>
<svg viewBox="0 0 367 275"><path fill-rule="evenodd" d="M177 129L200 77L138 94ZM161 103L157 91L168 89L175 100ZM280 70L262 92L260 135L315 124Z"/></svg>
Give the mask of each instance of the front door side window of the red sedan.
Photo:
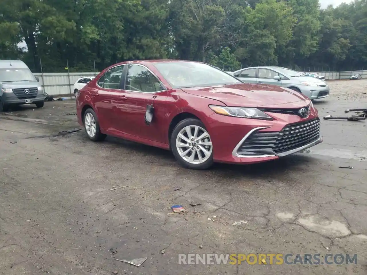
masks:
<svg viewBox="0 0 367 275"><path fill-rule="evenodd" d="M163 84L148 69L139 65L128 65L125 89L129 91L154 93L163 91Z"/></svg>

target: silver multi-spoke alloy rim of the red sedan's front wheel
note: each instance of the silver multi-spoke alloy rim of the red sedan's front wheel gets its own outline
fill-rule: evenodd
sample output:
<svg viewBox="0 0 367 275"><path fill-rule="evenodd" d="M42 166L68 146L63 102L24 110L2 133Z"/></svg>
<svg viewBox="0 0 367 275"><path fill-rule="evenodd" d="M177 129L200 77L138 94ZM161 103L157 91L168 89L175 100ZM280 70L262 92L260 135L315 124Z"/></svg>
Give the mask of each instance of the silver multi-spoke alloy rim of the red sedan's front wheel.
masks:
<svg viewBox="0 0 367 275"><path fill-rule="evenodd" d="M181 158L190 164L207 161L213 151L209 133L197 125L186 126L178 133L176 148Z"/></svg>

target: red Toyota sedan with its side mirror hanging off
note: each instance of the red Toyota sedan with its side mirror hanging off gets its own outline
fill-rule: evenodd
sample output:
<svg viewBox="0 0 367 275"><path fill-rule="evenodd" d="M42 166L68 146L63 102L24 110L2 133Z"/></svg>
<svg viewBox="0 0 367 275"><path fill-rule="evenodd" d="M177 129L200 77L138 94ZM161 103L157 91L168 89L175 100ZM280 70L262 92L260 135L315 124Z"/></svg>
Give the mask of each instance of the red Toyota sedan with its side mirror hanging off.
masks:
<svg viewBox="0 0 367 275"><path fill-rule="evenodd" d="M76 99L89 139L111 135L172 150L192 169L270 161L322 142L317 110L304 95L246 84L201 62L119 63Z"/></svg>

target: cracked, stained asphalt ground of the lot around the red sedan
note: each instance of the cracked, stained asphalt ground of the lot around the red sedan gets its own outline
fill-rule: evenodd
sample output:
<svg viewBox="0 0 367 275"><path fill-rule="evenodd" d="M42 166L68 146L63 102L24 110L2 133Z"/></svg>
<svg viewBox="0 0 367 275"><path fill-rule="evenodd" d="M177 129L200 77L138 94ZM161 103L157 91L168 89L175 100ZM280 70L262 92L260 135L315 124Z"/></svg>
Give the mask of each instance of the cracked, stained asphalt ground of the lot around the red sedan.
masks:
<svg viewBox="0 0 367 275"><path fill-rule="evenodd" d="M367 108L367 80L329 84L320 117ZM321 120L323 143L279 161L195 171L169 151L62 132L80 128L73 113L68 100L0 115L0 274L367 274L367 121ZM178 265L179 253L358 263Z"/></svg>

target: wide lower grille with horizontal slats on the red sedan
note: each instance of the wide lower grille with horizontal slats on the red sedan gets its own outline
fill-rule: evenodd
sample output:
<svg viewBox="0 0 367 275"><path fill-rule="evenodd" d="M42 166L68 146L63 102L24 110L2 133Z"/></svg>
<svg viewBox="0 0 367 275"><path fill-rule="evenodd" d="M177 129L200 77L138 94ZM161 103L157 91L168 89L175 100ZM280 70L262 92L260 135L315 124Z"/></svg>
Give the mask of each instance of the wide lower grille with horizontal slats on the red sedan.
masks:
<svg viewBox="0 0 367 275"><path fill-rule="evenodd" d="M279 154L319 139L320 120L288 124L280 132L255 131L238 148L239 155Z"/></svg>

